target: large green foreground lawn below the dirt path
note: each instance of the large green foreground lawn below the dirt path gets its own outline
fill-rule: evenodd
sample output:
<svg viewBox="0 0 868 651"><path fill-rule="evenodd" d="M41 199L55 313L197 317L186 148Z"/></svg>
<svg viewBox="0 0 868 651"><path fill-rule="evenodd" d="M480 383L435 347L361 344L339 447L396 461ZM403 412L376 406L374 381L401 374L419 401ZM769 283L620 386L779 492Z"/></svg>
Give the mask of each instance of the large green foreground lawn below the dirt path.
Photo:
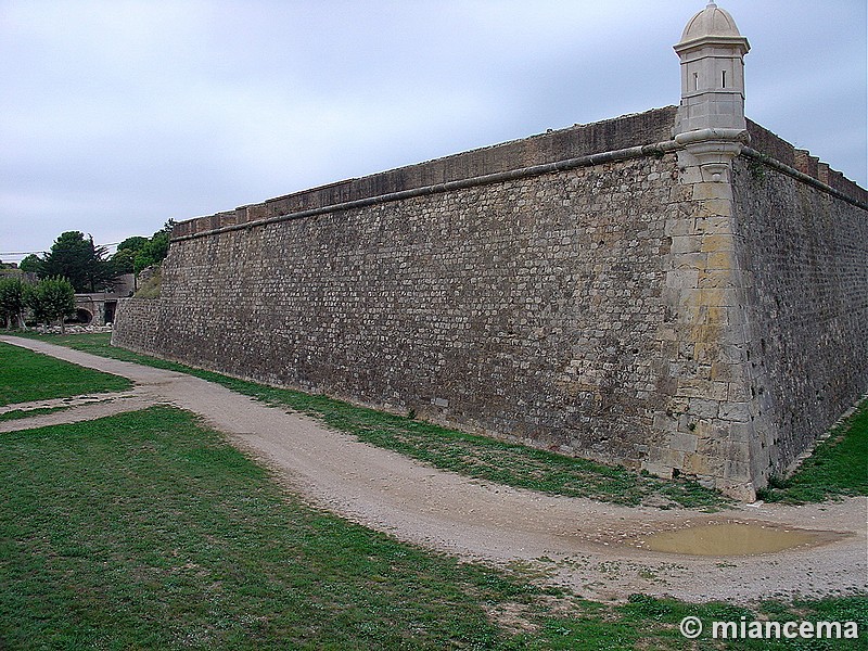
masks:
<svg viewBox="0 0 868 651"><path fill-rule="evenodd" d="M0 484L2 649L858 649L694 647L677 625L868 626L859 598L749 610L542 590L305 506L168 407L3 434Z"/></svg>

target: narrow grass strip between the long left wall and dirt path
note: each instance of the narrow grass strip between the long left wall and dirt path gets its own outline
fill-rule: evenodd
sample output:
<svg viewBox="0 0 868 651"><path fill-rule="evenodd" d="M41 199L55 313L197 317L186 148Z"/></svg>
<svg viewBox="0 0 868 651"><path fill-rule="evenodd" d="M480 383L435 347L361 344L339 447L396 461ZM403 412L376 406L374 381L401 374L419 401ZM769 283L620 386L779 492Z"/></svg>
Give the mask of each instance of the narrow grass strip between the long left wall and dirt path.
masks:
<svg viewBox="0 0 868 651"><path fill-rule="evenodd" d="M265 403L289 407L371 445L395 450L436 468L508 486L627 506L649 502L715 510L730 503L718 492L690 480L661 480L621 467L564 457L356 407L323 395L237 380L113 347L108 334L48 335L40 339L94 355L191 373Z"/></svg>

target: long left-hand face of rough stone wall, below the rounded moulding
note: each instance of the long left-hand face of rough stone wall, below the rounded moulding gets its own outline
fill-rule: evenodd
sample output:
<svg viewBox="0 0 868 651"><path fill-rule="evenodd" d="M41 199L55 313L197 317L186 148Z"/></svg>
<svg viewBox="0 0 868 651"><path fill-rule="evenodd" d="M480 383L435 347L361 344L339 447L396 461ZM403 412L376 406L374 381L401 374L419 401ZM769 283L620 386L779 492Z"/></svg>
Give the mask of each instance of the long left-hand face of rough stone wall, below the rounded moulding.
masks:
<svg viewBox="0 0 868 651"><path fill-rule="evenodd" d="M638 467L675 156L175 242L116 343Z"/></svg>

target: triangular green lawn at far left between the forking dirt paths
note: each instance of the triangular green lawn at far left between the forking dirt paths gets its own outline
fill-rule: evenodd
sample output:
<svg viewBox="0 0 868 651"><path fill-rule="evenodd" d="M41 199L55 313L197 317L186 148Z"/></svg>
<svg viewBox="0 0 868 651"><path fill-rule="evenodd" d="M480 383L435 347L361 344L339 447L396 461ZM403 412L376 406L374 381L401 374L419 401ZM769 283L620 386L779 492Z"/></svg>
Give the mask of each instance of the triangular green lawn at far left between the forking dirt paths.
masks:
<svg viewBox="0 0 868 651"><path fill-rule="evenodd" d="M0 343L0 406L131 387L126 378Z"/></svg>

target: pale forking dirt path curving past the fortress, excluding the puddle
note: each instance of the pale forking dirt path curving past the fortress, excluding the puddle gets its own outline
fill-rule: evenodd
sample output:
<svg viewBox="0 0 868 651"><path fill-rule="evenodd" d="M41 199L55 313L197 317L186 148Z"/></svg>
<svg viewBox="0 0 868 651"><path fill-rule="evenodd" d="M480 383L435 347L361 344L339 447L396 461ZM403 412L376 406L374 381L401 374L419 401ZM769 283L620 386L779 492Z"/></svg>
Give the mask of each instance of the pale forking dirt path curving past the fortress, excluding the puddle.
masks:
<svg viewBox="0 0 868 651"><path fill-rule="evenodd" d="M587 598L623 599L643 592L688 601L746 601L868 589L866 498L802 507L745 505L707 514L541 495L424 465L192 375L39 341L0 341L137 383L132 392L99 403L0 422L0 432L175 405L227 433L235 446L317 506L401 540L525 569ZM654 532L710 522L826 534L819 545L748 557L694 557L635 546Z"/></svg>

